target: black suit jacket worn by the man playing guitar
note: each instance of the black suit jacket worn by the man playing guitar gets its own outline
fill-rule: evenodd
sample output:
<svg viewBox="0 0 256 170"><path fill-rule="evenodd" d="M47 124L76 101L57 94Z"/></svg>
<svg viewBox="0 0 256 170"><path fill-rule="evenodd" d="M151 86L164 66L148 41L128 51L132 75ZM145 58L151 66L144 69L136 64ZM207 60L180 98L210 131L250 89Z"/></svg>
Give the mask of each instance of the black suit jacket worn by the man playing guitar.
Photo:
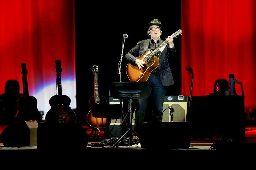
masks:
<svg viewBox="0 0 256 170"><path fill-rule="evenodd" d="M148 49L150 39L142 40L137 43L135 47L133 47L126 55L125 59L129 61L132 64L135 64L136 57L139 57L143 54L145 50ZM164 41L159 39L159 45L161 45ZM172 77L172 71L169 66L170 58L176 57L176 49L175 47L170 48L169 44L167 44L161 53L161 55L158 56L159 58L159 74L160 74L160 80L164 86L173 85L173 77Z"/></svg>

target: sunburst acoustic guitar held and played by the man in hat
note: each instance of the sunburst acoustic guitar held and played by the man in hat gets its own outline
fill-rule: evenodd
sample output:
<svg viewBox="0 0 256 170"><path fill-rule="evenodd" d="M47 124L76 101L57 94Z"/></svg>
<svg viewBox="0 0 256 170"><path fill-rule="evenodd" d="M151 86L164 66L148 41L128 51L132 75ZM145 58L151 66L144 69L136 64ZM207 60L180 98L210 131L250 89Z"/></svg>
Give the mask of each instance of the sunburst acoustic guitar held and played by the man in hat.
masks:
<svg viewBox="0 0 256 170"><path fill-rule="evenodd" d="M181 30L176 31L172 34L172 37L177 37L182 33ZM150 76L151 72L156 69L159 65L159 59L155 55L161 48L167 45L168 41L165 40L159 47L157 47L154 51L147 49L143 52L142 55L137 57L137 59L142 60L145 64L142 69L139 69L137 65L132 65L128 63L126 66L126 74L130 81L138 82L138 81L147 81L148 77Z"/></svg>

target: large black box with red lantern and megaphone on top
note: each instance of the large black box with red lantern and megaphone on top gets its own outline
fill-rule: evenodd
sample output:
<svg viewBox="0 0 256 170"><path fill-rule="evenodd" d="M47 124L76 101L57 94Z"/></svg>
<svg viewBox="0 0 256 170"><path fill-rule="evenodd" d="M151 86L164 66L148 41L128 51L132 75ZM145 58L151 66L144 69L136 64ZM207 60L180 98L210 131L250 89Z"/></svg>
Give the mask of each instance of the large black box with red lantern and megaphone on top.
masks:
<svg viewBox="0 0 256 170"><path fill-rule="evenodd" d="M192 96L188 116L194 139L224 137L232 142L245 138L244 96Z"/></svg>

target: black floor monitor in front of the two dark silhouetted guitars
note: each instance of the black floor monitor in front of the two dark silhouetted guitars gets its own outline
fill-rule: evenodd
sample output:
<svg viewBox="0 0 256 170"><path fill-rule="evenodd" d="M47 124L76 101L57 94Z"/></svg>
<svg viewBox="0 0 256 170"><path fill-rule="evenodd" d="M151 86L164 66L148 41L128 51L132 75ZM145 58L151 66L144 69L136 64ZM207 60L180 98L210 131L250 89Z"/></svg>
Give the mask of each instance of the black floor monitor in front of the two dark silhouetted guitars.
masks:
<svg viewBox="0 0 256 170"><path fill-rule="evenodd" d="M73 123L39 123L37 149L39 151L84 151L88 144L86 130Z"/></svg>

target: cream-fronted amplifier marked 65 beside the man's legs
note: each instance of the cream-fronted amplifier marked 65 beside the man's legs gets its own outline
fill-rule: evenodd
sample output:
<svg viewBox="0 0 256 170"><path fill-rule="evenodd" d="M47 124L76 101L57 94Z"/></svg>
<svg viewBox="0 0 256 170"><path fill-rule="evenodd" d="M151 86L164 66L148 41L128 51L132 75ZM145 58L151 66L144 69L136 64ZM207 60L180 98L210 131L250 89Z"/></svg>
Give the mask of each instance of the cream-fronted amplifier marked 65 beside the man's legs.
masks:
<svg viewBox="0 0 256 170"><path fill-rule="evenodd" d="M173 122L187 122L188 96L165 96L163 110L174 109ZM171 122L170 109L163 112L163 122Z"/></svg>

